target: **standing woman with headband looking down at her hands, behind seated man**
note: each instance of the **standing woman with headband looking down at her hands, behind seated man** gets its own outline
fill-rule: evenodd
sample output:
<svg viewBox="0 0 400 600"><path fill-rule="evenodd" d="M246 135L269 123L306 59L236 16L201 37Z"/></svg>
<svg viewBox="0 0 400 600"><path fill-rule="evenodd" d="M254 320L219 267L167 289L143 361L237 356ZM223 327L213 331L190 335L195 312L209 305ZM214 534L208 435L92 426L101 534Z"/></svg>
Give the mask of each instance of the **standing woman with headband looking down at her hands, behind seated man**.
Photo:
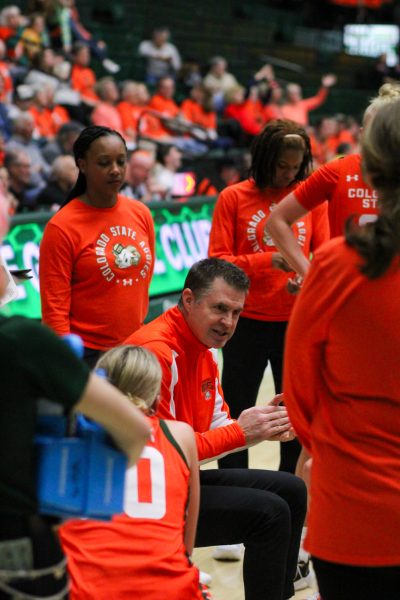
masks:
<svg viewBox="0 0 400 600"><path fill-rule="evenodd" d="M310 141L292 121L270 121L252 146L250 178L219 195L210 233L210 256L241 267L250 278L250 291L236 332L223 349L222 387L233 417L254 406L268 362L275 391L281 391L283 345L295 297L287 291L290 268L273 241L264 235L271 211L309 173ZM326 207L293 226L304 256L329 239ZM293 273L292 273L293 275ZM294 472L297 440L281 444L280 470ZM247 467L248 452L220 461L223 467Z"/></svg>

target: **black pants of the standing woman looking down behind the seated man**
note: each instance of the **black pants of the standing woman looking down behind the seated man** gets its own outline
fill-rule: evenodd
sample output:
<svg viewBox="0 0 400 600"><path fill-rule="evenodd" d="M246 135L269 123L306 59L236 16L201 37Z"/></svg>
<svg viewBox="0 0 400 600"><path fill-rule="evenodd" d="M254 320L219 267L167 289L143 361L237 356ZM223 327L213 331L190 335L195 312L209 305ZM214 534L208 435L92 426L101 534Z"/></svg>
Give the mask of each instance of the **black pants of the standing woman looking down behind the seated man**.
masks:
<svg viewBox="0 0 400 600"><path fill-rule="evenodd" d="M254 406L264 371L271 364L275 393L282 390L283 351L286 321L256 321L241 317L235 334L222 350L222 389L231 415L237 419ZM267 399L266 399L267 400ZM294 473L300 454L297 440L281 444L280 471ZM234 452L218 461L220 467L247 468L248 450Z"/></svg>

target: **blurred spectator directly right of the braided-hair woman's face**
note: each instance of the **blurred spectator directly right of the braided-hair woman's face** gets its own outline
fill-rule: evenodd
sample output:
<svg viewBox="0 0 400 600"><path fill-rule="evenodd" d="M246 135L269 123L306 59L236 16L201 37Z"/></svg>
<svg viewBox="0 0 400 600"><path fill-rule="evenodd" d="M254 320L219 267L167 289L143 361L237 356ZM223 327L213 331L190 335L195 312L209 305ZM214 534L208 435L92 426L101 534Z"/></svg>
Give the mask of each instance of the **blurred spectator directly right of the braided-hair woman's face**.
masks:
<svg viewBox="0 0 400 600"><path fill-rule="evenodd" d="M141 202L159 200L159 190L155 186L152 171L155 165L154 155L147 150L135 150L128 159L125 185L121 193L128 198Z"/></svg>

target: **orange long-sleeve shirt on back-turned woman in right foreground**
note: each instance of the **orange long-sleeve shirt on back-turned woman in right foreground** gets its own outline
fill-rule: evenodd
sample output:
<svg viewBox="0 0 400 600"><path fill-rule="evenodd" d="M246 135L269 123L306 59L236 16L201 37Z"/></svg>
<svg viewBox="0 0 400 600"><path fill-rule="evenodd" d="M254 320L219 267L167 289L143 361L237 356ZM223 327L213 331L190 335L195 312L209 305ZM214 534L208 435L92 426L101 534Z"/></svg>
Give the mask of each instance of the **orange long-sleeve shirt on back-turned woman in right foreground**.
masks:
<svg viewBox="0 0 400 600"><path fill-rule="evenodd" d="M360 273L343 238L317 251L286 337L284 394L313 457L306 548L400 564L400 269Z"/></svg>

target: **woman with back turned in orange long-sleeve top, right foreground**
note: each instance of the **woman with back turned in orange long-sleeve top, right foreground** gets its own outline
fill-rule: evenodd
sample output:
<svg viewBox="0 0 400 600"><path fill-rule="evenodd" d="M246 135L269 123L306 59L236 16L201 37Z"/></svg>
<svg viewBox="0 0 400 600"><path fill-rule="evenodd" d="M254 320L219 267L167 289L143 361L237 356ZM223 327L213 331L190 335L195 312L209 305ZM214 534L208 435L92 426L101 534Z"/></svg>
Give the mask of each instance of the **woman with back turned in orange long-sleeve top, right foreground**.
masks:
<svg viewBox="0 0 400 600"><path fill-rule="evenodd" d="M362 139L376 221L317 251L288 328L285 403L312 456L306 549L323 600L400 589L400 100Z"/></svg>

